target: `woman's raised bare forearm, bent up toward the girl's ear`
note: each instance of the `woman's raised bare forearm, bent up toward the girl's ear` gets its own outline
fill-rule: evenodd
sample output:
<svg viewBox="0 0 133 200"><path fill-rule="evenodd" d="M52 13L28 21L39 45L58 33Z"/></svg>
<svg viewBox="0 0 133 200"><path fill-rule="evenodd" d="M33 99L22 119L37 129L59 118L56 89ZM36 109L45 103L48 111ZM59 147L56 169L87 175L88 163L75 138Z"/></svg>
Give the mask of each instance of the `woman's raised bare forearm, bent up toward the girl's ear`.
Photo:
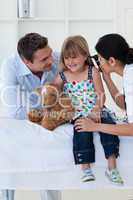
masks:
<svg viewBox="0 0 133 200"><path fill-rule="evenodd" d="M109 92L110 92L113 100L115 101L115 103L121 109L125 110L125 97L124 97L124 95L120 94L118 88L116 87L116 85L112 81L110 74L105 74L104 72L102 72L102 74L103 74L103 79L106 82L106 85L109 89Z"/></svg>

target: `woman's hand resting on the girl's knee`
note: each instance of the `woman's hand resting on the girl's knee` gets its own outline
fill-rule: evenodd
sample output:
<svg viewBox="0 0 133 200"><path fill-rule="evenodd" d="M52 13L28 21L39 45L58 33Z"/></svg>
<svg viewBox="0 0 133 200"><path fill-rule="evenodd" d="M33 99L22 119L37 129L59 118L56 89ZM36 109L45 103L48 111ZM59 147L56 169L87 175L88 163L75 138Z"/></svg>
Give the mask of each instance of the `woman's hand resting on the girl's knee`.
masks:
<svg viewBox="0 0 133 200"><path fill-rule="evenodd" d="M82 131L97 131L97 123L90 118L80 118L75 121L75 129L78 132Z"/></svg>

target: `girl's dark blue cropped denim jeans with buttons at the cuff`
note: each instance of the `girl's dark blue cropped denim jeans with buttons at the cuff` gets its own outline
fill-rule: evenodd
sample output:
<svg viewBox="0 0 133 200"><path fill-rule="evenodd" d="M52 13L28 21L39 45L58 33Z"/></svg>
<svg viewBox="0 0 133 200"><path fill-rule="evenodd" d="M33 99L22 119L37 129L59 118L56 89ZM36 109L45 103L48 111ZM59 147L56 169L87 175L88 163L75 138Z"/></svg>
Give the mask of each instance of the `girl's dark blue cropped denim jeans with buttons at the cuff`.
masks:
<svg viewBox="0 0 133 200"><path fill-rule="evenodd" d="M101 111L101 123L115 124L111 114L105 109ZM104 149L105 158L111 155L117 158L119 155L119 138L99 132L100 141ZM75 164L87 164L95 162L95 147L93 143L93 132L77 132L74 128L73 154Z"/></svg>

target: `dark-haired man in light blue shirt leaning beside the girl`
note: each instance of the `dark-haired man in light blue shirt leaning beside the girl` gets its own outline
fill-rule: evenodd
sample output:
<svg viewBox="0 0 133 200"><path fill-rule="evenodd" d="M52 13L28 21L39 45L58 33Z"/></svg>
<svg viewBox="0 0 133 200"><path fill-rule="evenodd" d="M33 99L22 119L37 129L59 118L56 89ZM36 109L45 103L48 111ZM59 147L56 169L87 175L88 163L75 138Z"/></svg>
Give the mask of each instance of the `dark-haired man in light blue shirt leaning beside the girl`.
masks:
<svg viewBox="0 0 133 200"><path fill-rule="evenodd" d="M59 55L52 52L46 37L38 33L28 33L22 37L17 52L1 66L3 116L25 119L30 94L35 88L54 79L58 72L58 62ZM34 103L32 98L31 103ZM42 191L41 199L60 200L60 192ZM14 200L14 190L4 190L3 200Z"/></svg>

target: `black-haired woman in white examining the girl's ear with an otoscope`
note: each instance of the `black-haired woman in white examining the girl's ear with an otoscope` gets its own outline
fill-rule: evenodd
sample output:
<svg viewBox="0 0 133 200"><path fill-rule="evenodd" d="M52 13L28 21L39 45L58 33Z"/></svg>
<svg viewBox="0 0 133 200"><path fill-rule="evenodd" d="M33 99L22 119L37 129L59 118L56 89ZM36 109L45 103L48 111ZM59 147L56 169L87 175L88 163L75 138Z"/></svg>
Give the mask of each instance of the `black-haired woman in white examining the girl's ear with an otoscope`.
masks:
<svg viewBox="0 0 133 200"><path fill-rule="evenodd" d="M119 34L101 37L96 44L103 79L116 104L126 110L128 123L103 124L89 118L75 122L75 128L81 131L100 131L113 135L133 136L133 49ZM115 72L123 77L124 95L120 94L111 79Z"/></svg>

